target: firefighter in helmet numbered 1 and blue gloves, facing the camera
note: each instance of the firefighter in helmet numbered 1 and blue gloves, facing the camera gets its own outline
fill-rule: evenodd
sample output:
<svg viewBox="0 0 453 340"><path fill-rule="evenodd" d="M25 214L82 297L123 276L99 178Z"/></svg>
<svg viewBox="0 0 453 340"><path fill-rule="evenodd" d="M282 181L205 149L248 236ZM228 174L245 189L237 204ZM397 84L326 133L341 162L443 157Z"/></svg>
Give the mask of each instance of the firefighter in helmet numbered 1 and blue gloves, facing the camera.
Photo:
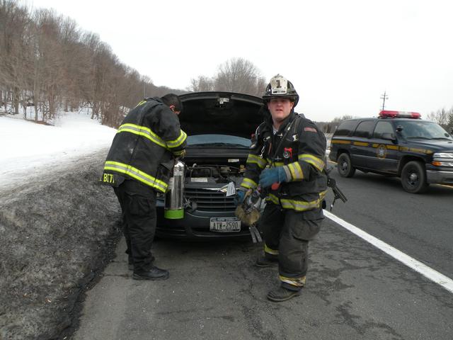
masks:
<svg viewBox="0 0 453 340"><path fill-rule="evenodd" d="M308 268L309 241L319 232L326 195L326 137L311 120L294 113L299 95L280 74L263 96L270 115L256 129L239 188L260 186L267 194L260 219L264 254L256 266L278 263L280 286L268 293L275 302L300 294Z"/></svg>

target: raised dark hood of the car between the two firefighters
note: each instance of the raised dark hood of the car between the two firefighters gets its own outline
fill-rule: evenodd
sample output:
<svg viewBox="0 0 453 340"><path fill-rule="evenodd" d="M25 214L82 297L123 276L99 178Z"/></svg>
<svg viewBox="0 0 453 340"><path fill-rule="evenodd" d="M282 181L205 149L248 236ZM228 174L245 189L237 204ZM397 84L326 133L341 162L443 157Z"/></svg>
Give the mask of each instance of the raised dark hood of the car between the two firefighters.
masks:
<svg viewBox="0 0 453 340"><path fill-rule="evenodd" d="M181 129L188 135L234 135L250 138L263 122L263 100L232 92L193 92L179 96Z"/></svg>

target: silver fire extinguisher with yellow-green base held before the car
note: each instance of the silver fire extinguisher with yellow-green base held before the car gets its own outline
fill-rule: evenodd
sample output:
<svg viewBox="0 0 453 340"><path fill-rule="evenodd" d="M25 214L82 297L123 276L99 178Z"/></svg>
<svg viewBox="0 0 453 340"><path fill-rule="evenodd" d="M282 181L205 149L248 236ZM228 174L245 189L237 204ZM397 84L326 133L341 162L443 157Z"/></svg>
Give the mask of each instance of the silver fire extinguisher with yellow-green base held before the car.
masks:
<svg viewBox="0 0 453 340"><path fill-rule="evenodd" d="M184 170L185 164L176 159L171 177L165 193L164 217L177 220L184 217Z"/></svg>

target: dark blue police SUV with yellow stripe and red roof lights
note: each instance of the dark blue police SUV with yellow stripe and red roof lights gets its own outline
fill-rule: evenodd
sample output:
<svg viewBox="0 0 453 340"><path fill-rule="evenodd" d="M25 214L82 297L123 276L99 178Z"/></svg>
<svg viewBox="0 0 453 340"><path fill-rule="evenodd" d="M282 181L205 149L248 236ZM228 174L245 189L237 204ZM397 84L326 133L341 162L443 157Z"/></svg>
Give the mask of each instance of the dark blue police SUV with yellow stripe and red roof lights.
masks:
<svg viewBox="0 0 453 340"><path fill-rule="evenodd" d="M452 135L420 113L381 111L379 118L343 120L329 159L343 177L356 169L398 176L408 193L423 193L430 183L453 184Z"/></svg>

